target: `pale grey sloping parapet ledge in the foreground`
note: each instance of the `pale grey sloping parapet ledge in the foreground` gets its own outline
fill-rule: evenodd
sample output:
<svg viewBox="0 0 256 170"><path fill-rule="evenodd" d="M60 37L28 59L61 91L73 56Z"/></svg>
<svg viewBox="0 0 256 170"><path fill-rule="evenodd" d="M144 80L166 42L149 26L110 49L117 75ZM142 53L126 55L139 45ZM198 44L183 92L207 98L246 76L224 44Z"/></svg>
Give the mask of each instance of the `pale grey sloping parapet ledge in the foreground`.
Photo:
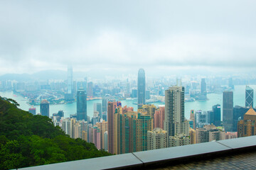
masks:
<svg viewBox="0 0 256 170"><path fill-rule="evenodd" d="M119 154L109 157L82 159L73 162L33 166L23 168L23 170L147 169L154 166L164 166L164 164L177 164L177 162L216 157L219 154L232 154L245 149L254 148L256 148L256 136L240 137L217 142L206 142L181 147Z"/></svg>

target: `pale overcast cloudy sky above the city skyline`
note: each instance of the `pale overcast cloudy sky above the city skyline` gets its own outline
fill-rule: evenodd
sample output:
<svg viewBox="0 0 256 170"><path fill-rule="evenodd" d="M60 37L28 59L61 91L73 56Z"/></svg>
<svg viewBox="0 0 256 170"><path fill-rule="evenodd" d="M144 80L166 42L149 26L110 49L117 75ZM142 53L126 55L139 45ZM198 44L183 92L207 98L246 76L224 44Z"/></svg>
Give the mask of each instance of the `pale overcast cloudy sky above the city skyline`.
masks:
<svg viewBox="0 0 256 170"><path fill-rule="evenodd" d="M0 75L256 71L256 1L0 1ZM134 71L135 70L135 71Z"/></svg>

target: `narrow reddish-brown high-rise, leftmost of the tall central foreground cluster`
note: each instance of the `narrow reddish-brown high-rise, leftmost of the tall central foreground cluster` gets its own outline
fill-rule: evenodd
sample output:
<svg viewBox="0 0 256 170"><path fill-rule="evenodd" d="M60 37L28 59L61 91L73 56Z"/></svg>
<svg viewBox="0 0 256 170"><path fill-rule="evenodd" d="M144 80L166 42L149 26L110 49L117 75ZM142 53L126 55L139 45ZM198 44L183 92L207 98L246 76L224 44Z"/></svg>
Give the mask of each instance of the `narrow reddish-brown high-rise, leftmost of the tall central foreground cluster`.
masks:
<svg viewBox="0 0 256 170"><path fill-rule="evenodd" d="M114 148L114 129L116 129L117 127L115 127L114 125L114 112L115 112L115 108L117 108L117 102L113 101L113 102L108 102L107 103L107 149L108 152L110 152L111 154L115 154L117 153L117 149Z"/></svg>

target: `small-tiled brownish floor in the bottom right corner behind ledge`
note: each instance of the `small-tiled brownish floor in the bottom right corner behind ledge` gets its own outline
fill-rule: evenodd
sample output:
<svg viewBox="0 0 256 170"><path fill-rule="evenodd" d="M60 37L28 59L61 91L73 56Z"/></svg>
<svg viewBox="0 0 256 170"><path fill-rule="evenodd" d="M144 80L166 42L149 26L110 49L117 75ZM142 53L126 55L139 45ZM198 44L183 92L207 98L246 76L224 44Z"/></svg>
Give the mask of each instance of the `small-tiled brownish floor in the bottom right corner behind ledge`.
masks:
<svg viewBox="0 0 256 170"><path fill-rule="evenodd" d="M185 164L156 167L157 170L169 169L256 169L256 151L231 154L223 157L186 162Z"/></svg>

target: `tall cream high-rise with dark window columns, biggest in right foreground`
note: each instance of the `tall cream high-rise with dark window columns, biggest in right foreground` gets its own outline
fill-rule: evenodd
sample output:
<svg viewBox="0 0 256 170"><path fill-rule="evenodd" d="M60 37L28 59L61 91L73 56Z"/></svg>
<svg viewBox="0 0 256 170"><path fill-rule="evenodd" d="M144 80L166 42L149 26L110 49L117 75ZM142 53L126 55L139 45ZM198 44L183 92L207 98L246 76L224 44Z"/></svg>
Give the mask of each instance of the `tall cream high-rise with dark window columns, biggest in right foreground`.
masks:
<svg viewBox="0 0 256 170"><path fill-rule="evenodd" d="M184 118L183 86L171 86L165 91L164 115L164 130L167 131L167 140L171 139L168 145L187 144L188 123L185 123Z"/></svg>

